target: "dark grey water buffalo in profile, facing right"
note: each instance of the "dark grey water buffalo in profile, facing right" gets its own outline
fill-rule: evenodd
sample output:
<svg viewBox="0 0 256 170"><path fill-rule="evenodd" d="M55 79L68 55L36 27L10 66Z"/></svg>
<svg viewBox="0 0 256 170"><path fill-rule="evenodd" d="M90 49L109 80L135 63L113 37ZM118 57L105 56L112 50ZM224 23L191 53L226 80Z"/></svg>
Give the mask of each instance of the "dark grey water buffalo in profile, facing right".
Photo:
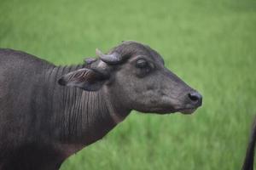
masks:
<svg viewBox="0 0 256 170"><path fill-rule="evenodd" d="M89 64L55 66L0 50L0 169L58 169L102 139L131 110L191 113L201 95L160 54L123 42Z"/></svg>

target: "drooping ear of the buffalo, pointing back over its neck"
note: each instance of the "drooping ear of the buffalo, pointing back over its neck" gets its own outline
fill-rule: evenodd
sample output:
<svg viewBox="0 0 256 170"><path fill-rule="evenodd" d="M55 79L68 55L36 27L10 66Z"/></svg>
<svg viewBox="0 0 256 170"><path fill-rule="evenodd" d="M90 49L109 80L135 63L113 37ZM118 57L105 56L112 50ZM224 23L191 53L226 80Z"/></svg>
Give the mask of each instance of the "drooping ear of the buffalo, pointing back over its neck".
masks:
<svg viewBox="0 0 256 170"><path fill-rule="evenodd" d="M62 76L59 84L62 86L70 86L82 88L87 91L96 91L102 88L102 85L108 79L107 75L99 71L91 69L79 69Z"/></svg>

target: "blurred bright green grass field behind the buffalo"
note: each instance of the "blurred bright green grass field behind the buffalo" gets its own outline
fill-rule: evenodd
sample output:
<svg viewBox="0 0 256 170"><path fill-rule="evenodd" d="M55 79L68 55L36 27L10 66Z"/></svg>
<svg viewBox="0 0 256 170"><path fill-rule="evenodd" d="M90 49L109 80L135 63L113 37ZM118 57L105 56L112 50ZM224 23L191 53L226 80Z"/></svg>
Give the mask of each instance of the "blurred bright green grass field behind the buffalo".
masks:
<svg viewBox="0 0 256 170"><path fill-rule="evenodd" d="M256 1L0 0L1 48L71 65L122 40L159 51L203 107L134 111L61 170L240 169L256 115Z"/></svg>

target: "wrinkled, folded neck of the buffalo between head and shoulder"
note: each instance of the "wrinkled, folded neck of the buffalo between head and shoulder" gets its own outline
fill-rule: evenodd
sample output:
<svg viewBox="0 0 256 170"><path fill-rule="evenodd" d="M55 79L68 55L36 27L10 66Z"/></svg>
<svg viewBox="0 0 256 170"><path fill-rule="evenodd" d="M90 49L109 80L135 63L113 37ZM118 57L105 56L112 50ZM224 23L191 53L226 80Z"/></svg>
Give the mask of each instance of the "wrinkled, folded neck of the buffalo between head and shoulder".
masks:
<svg viewBox="0 0 256 170"><path fill-rule="evenodd" d="M88 92L57 83L62 75L81 67L55 67L44 75L48 84L44 94L50 114L49 133L51 139L55 139L55 146L63 151L64 157L102 139L130 113L119 107L120 101L111 99L106 86L99 91Z"/></svg>

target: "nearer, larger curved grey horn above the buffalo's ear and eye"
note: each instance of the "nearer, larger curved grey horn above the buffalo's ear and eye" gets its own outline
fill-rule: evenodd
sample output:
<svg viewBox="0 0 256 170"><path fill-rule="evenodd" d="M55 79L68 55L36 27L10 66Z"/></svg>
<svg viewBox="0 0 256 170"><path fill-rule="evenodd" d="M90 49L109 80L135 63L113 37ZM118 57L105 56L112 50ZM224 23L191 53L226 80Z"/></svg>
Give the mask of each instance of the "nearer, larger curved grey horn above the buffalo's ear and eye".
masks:
<svg viewBox="0 0 256 170"><path fill-rule="evenodd" d="M102 61L108 63L109 65L116 65L122 61L120 54L102 54L102 52L98 48L96 48L96 55L99 56L102 59Z"/></svg>

